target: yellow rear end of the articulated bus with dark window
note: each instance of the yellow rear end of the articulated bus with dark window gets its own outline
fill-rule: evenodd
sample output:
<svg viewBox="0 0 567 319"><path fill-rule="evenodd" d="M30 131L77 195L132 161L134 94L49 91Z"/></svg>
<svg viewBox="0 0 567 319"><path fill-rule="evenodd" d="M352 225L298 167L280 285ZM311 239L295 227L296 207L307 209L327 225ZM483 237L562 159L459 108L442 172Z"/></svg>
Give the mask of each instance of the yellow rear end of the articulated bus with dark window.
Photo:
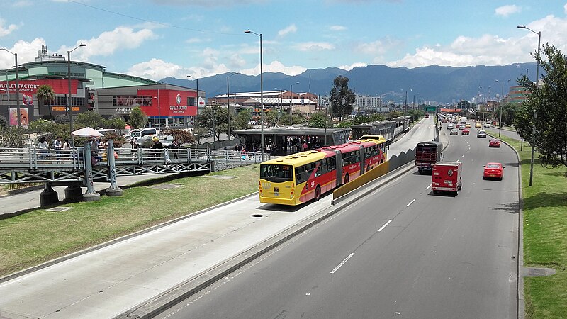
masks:
<svg viewBox="0 0 567 319"><path fill-rule="evenodd" d="M297 205L296 184L291 164L268 161L260 164L260 203Z"/></svg>

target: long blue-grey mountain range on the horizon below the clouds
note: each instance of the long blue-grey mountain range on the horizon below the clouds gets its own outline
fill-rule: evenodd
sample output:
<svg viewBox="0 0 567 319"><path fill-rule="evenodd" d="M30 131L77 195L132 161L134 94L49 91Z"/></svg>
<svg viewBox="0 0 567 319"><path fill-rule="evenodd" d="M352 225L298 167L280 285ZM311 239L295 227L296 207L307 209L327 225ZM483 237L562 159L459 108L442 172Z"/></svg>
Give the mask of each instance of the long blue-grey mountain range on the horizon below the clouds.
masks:
<svg viewBox="0 0 567 319"><path fill-rule="evenodd" d="M474 67L387 67L369 65L355 67L350 71L337 67L308 69L298 75L264 72L264 91L287 91L293 85L293 92L311 92L320 96L330 95L333 79L342 75L349 78L349 88L356 94L382 96L383 101L403 103L457 103L466 101L498 100L501 92L507 94L510 86L517 85L522 74L535 77L536 63L516 63L512 65ZM541 71L541 69L540 69ZM199 90L206 97L214 97L227 92L227 77L230 93L260 91L260 76L245 74L217 74L199 79ZM496 81L498 79L498 82ZM509 81L510 80L510 81ZM195 89L196 82L189 79L167 77L162 83Z"/></svg>

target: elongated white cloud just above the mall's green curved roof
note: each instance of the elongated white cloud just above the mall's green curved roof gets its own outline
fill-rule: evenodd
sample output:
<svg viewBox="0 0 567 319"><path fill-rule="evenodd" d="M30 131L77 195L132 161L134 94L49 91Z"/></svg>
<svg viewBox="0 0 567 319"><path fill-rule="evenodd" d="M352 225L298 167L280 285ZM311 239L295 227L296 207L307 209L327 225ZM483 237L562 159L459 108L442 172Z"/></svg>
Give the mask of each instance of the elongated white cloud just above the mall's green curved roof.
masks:
<svg viewBox="0 0 567 319"><path fill-rule="evenodd" d="M156 38L152 30L142 29L134 31L133 28L118 27L112 31L101 33L97 38L91 40L79 40L71 47L62 46L59 52L66 53L80 43L86 44L77 50L77 60L88 61L94 55L108 56L113 55L118 50L129 50L140 47L145 40Z"/></svg>

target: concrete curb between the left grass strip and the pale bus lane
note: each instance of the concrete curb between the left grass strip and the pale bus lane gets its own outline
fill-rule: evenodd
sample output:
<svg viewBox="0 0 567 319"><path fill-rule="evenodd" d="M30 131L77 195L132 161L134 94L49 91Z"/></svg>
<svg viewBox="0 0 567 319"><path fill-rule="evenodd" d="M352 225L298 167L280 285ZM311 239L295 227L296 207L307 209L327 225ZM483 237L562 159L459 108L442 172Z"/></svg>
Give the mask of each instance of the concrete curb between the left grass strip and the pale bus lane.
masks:
<svg viewBox="0 0 567 319"><path fill-rule="evenodd" d="M20 272L15 272L15 273L13 273L13 274L9 274L8 276L4 276L4 277L0 278L0 283L3 283L4 281L9 281L9 280L14 279L14 278L17 278L17 277L19 277L19 276L23 276L23 275L25 275L25 274L29 274L30 272L35 272L35 271L38 271L38 270L40 270L40 269L43 269L43 268L46 268L46 267L50 267L50 266L52 266L52 265L54 265L54 264L58 264L58 263L60 263L60 262L64 262L65 260L69 260L69 259L72 259L72 258L74 258L74 257L81 256L82 254L86 254L86 253L88 253L88 252L93 252L94 250L99 250L99 249L101 249L101 248L108 247L108 246L110 246L110 245L114 245L114 244L116 244L117 242L122 242L123 240L128 240L128 239L130 239L130 238L132 238L132 237L136 237L136 236L139 236L139 235L142 235L142 234L151 232L152 230L156 230L156 229L165 227L165 226L167 226L167 225L171 225L172 223L176 223L176 222L178 222L179 220L184 220L184 219L186 219L186 218L190 218L190 217L193 217L193 216L196 216L196 215L205 213L205 212L207 212L207 211L212 211L212 210L215 209L215 208L218 208L218 207L221 207L221 206L225 206L225 205L228 205L228 204L230 204L230 203L234 203L235 201L240 201L240 200L242 200L242 199L244 199L244 198L248 198L248 197L252 197L252 196L257 196L257 195L258 195L258 192L252 193L252 194L248 194L248 195L245 195L245 196L240 196L239 198L232 199L231 201L227 201L227 202L225 202L225 203L220 203L220 204L218 204L218 205L215 205L215 206L212 206L212 207L209 207L209 208L205 208L205 209L203 209L203 210L201 210L201 211L196 211L196 212L194 212L194 213L189 213L189 214L187 214L187 215L185 215L185 216L181 216L181 217L176 218L176 219L174 219L174 220L169 220L169 221L164 222L164 223L161 223L161 224L159 224L159 225L155 225L155 226L152 226L152 227L150 227L150 228L146 228L146 229L144 229L144 230L137 231L136 233L131 233L131 234L128 234L128 235L124 235L124 236L122 236L122 237L118 237L118 238L113 239L113 240L110 240L110 241L108 241L108 242L103 242L102 244L94 245L93 247L85 248L84 250L79 250L78 252L72 252L71 254L67 254L67 255L62 256L62 257L59 257L59 258L57 258L57 259L52 259L52 260L50 260L50 261L48 261L48 262L44 262L43 264L38 264L37 266L33 266L33 267L30 267L30 268L27 268L27 269L23 269L23 270L21 270Z"/></svg>

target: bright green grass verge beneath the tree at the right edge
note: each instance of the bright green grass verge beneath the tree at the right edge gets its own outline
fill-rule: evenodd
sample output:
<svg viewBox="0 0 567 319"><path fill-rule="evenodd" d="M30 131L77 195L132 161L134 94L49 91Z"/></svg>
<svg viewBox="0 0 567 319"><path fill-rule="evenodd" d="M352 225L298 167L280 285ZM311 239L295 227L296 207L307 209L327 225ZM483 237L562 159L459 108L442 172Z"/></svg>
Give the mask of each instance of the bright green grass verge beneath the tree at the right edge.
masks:
<svg viewBox="0 0 567 319"><path fill-rule="evenodd" d="M520 153L524 198L524 267L549 267L554 276L525 277L527 318L566 318L567 315L567 178L566 168L546 169L534 156L532 186L529 168L532 148L501 137ZM520 150L522 149L522 150Z"/></svg>

